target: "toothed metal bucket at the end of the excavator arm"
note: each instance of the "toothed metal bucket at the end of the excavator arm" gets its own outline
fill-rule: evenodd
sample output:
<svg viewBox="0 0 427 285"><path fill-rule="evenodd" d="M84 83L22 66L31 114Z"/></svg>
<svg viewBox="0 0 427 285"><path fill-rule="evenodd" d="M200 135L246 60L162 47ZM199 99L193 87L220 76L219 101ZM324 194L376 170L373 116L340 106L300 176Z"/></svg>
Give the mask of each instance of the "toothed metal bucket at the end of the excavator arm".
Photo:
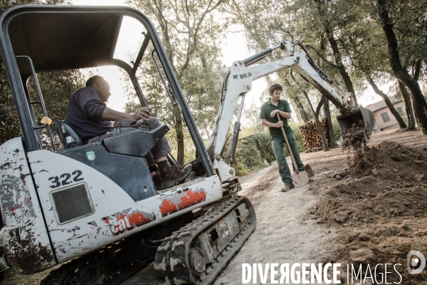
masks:
<svg viewBox="0 0 427 285"><path fill-rule="evenodd" d="M364 138L366 143L371 138L372 130L375 126L375 116L371 110L363 108L362 106L354 108L353 110L337 115L339 129L341 130L341 138L347 134L347 130L351 127L364 124ZM356 125L354 125L356 124Z"/></svg>

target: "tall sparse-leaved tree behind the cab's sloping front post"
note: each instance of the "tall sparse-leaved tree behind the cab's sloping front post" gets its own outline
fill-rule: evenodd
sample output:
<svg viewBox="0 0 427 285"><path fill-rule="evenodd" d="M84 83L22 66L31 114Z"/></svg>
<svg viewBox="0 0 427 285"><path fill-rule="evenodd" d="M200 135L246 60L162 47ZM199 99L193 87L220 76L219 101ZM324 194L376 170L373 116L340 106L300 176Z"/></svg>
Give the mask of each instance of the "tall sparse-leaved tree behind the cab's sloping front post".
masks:
<svg viewBox="0 0 427 285"><path fill-rule="evenodd" d="M201 128L213 125L221 93L221 81L216 72L220 70L219 43L224 26L216 21L212 13L221 6L222 1L130 1L157 26L176 78ZM146 66L144 71L152 74L142 82L145 96L149 103L154 104L154 110L163 109L157 109L158 114L174 128L176 160L184 164L185 130L179 108L167 105L166 100L159 98L158 94L162 90L159 89L159 82L154 82L159 81L159 78L154 75L153 68Z"/></svg>

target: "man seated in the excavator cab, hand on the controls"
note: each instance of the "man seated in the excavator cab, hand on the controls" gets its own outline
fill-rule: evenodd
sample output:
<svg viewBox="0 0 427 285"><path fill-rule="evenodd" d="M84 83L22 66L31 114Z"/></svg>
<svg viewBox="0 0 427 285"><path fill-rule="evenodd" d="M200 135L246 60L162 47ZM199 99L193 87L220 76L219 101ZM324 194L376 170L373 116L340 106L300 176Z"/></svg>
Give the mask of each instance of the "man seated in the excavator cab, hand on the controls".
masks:
<svg viewBox="0 0 427 285"><path fill-rule="evenodd" d="M150 117L148 107L142 107L133 114L108 108L105 103L110 95L110 84L101 76L93 76L86 81L86 87L78 89L71 96L65 122L80 135L83 143L100 142L107 138L107 132L112 130L112 120L143 120L147 122L149 130L159 128L159 119ZM126 132L125 129L122 130ZM134 128L128 130L137 131ZM163 137L145 156L149 171L156 173L153 182L157 191L183 182L191 172L191 165L186 165L183 170L170 165L167 161L169 152L171 148Z"/></svg>

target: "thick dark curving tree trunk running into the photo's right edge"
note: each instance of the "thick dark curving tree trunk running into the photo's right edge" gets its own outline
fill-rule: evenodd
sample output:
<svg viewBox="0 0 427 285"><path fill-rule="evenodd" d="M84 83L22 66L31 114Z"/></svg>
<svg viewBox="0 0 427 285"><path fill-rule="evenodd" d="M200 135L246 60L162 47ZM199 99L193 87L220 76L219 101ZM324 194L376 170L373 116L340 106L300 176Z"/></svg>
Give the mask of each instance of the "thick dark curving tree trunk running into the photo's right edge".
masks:
<svg viewBox="0 0 427 285"><path fill-rule="evenodd" d="M418 125L421 128L421 132L423 134L427 134L427 115L426 110L424 110L423 93L418 85L418 81L411 78L408 71L406 71L406 69L401 65L397 38L393 31L393 23L389 19L389 11L386 10L386 0L377 0L377 4L379 9L378 16L381 20L381 28L386 35L387 46L389 48L391 70L393 70L396 78L403 82L411 91L413 109L415 110Z"/></svg>

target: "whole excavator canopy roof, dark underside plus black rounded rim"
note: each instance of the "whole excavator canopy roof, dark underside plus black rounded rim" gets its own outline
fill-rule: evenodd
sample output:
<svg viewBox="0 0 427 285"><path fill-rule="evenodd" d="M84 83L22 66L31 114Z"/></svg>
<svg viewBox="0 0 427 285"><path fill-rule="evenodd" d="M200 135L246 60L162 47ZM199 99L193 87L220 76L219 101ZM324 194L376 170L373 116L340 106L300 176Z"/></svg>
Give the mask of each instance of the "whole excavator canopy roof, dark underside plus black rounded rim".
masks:
<svg viewBox="0 0 427 285"><path fill-rule="evenodd" d="M129 7L49 8L19 6L0 20L14 55L30 57L36 73L111 65L123 16L139 12ZM21 76L29 76L28 61L17 62Z"/></svg>

